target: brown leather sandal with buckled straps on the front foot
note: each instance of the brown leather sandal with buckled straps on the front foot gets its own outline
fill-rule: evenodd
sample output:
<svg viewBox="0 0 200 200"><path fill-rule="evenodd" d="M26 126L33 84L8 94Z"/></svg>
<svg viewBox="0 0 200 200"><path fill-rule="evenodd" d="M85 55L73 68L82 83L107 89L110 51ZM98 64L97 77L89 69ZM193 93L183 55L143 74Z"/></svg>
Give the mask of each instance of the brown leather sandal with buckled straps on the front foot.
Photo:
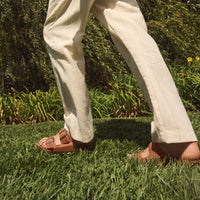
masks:
<svg viewBox="0 0 200 200"><path fill-rule="evenodd" d="M69 132L65 128L62 128L56 135L48 137L43 145L38 143L36 146L42 151L57 154L62 152L74 152L76 148L92 151L95 148L95 142L91 140L88 143L82 143L73 140Z"/></svg>

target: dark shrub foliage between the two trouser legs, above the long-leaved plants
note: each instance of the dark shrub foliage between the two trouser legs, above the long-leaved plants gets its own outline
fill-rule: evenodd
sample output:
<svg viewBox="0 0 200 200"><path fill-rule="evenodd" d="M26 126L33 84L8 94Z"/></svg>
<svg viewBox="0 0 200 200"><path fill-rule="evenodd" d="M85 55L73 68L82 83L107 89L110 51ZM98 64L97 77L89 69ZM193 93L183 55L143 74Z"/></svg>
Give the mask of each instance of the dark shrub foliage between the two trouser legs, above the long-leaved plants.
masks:
<svg viewBox="0 0 200 200"><path fill-rule="evenodd" d="M89 16L83 50L89 88L101 87L103 90L109 90L110 82L128 72L128 67L113 45L108 31L93 15Z"/></svg>

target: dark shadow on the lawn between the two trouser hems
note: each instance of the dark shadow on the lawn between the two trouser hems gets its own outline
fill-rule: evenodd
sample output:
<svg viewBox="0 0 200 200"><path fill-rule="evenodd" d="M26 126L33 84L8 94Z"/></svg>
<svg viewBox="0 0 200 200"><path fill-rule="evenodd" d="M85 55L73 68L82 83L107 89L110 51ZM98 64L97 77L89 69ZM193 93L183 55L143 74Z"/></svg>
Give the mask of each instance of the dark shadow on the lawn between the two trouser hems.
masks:
<svg viewBox="0 0 200 200"><path fill-rule="evenodd" d="M151 141L150 118L144 121L136 119L95 120L95 138L104 140L135 141L138 145L147 146Z"/></svg>

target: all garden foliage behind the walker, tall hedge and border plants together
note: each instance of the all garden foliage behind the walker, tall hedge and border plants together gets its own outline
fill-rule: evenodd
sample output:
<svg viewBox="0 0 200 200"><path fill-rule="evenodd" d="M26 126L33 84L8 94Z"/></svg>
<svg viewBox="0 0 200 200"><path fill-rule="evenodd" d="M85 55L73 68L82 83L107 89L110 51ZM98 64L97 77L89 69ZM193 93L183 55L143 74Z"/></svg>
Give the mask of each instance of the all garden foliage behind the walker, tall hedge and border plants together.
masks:
<svg viewBox="0 0 200 200"><path fill-rule="evenodd" d="M200 110L198 1L138 1L184 105L193 111ZM42 36L47 4L47 0L0 1L0 124L62 119L61 100ZM134 76L108 31L92 14L82 45L93 116L149 114Z"/></svg>

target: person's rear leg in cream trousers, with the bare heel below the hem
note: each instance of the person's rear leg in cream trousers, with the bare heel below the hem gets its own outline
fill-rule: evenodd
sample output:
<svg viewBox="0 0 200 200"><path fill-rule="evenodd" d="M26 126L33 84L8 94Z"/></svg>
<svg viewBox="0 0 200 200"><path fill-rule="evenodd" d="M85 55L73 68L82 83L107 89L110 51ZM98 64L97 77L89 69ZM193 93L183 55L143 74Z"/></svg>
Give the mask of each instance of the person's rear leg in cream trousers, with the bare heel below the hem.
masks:
<svg viewBox="0 0 200 200"><path fill-rule="evenodd" d="M173 157L190 157L187 150L193 158L199 157L190 120L160 51L147 33L137 2L96 0L91 10L110 31L148 101L154 117L152 142Z"/></svg>

